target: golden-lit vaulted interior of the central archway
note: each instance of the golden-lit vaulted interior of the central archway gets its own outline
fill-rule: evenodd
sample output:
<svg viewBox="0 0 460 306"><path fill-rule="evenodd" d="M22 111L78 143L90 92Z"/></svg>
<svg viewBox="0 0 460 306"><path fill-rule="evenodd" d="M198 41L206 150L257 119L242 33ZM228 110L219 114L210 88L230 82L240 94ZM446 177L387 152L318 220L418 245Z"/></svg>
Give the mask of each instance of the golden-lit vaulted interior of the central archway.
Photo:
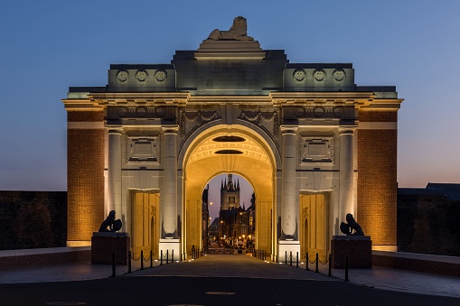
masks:
<svg viewBox="0 0 460 306"><path fill-rule="evenodd" d="M202 190L221 173L236 173L253 186L256 194L256 247L272 252L275 162L264 139L247 127L216 126L187 148L183 162L183 246L202 248Z"/></svg>

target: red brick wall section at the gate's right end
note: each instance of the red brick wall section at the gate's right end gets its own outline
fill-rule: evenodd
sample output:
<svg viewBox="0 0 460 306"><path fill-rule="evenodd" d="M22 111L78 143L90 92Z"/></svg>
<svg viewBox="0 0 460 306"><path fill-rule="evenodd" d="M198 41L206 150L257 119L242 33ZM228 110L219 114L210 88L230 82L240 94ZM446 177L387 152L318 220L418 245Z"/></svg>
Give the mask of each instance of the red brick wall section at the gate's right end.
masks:
<svg viewBox="0 0 460 306"><path fill-rule="evenodd" d="M396 112L362 111L360 122L395 122ZM398 130L358 130L358 222L373 245L396 246Z"/></svg>

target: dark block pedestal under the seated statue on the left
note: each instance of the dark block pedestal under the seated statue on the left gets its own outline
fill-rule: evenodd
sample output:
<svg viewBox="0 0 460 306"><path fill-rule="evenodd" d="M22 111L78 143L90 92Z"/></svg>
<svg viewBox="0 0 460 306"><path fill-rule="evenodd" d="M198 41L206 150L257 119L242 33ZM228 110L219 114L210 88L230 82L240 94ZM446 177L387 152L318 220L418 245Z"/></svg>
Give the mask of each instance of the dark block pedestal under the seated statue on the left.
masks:
<svg viewBox="0 0 460 306"><path fill-rule="evenodd" d="M91 264L112 264L115 251L116 264L127 264L131 240L127 233L94 232L91 237Z"/></svg>

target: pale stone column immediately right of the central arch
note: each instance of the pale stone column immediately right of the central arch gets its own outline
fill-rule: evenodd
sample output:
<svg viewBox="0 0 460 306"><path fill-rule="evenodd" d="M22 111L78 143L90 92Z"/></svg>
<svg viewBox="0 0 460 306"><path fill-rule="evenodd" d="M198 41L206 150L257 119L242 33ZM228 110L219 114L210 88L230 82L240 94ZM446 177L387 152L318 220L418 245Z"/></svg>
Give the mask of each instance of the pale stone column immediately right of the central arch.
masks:
<svg viewBox="0 0 460 306"><path fill-rule="evenodd" d="M296 130L297 126L281 126L281 240L294 240L296 234Z"/></svg>

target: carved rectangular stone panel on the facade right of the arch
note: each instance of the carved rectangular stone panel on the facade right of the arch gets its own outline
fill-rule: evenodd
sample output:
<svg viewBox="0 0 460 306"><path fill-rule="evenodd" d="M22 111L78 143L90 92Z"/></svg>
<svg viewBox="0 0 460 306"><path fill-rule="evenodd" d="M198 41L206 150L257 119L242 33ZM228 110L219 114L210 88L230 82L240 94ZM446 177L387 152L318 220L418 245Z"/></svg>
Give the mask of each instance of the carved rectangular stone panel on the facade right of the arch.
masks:
<svg viewBox="0 0 460 306"><path fill-rule="evenodd" d="M333 163L333 136L300 136L301 163Z"/></svg>

